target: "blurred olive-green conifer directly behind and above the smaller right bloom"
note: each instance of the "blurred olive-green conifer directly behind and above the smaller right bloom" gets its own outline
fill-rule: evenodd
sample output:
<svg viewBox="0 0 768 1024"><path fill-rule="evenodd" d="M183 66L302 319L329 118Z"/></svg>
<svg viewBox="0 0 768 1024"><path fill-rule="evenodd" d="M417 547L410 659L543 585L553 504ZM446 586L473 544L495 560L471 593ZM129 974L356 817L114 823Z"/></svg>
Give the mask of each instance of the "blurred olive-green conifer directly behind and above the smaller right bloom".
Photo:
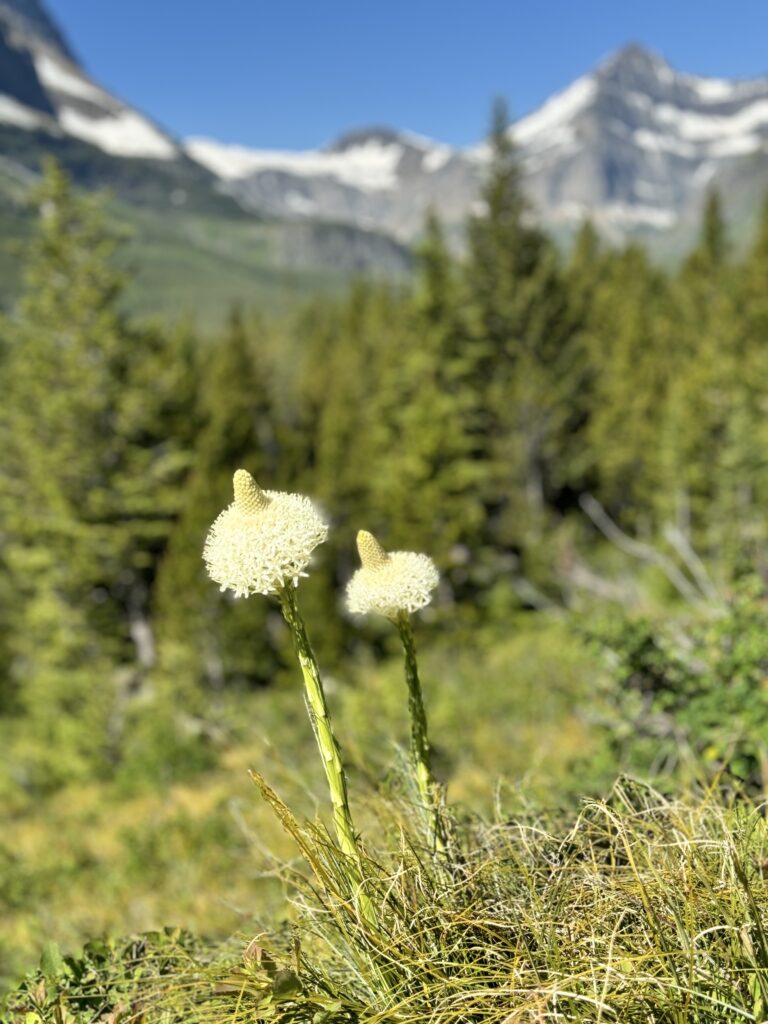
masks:
<svg viewBox="0 0 768 1024"><path fill-rule="evenodd" d="M380 379L369 522L392 545L434 550L445 569L455 545L467 551L477 545L482 520L474 449L480 410L459 268L433 213L417 257L403 343Z"/></svg>

